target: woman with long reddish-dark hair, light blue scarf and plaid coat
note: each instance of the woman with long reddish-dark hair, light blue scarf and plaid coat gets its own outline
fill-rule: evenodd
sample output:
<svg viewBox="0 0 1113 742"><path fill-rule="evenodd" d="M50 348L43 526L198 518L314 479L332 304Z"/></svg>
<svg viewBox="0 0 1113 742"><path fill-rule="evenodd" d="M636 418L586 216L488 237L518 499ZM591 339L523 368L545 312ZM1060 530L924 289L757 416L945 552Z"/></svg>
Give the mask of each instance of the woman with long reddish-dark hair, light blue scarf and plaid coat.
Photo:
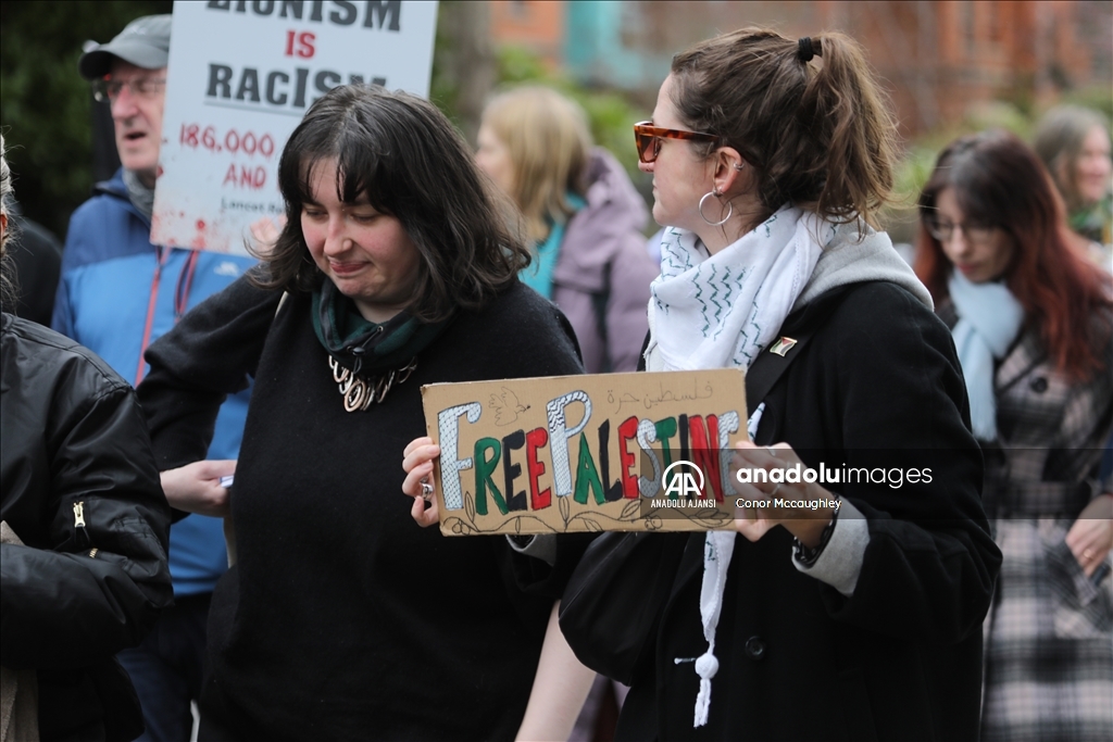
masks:
<svg viewBox="0 0 1113 742"><path fill-rule="evenodd" d="M1004 555L982 739L1109 740L1113 487L1094 478L1113 426L1109 277L1009 133L948 146L919 208L916 271L952 327Z"/></svg>

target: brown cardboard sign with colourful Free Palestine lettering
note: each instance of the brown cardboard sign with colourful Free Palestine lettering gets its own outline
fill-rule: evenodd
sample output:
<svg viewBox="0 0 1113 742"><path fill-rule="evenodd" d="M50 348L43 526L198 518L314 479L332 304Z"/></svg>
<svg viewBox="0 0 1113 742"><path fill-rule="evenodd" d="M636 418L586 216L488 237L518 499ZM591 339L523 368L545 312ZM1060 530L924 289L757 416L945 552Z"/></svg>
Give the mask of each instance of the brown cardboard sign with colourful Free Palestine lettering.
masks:
<svg viewBox="0 0 1113 742"><path fill-rule="evenodd" d="M707 531L735 517L742 372L433 384L445 535Z"/></svg>

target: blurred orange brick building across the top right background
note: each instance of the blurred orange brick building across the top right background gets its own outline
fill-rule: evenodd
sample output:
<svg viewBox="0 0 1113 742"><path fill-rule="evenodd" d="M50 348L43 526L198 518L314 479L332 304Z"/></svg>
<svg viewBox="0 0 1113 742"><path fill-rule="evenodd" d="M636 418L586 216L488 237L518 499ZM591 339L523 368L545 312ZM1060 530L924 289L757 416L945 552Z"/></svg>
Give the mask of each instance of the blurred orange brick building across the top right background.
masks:
<svg viewBox="0 0 1113 742"><path fill-rule="evenodd" d="M905 135L954 123L984 101L1046 106L1067 89L1113 86L1113 3L1101 0L491 3L496 43L650 106L674 51L749 24L857 39Z"/></svg>

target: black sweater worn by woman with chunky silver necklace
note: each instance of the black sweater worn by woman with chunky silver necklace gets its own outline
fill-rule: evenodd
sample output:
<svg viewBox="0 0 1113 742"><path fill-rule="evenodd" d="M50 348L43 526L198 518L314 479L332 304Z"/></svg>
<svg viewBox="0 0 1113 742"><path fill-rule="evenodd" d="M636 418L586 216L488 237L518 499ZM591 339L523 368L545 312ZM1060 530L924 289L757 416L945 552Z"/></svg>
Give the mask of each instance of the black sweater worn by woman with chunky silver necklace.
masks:
<svg viewBox="0 0 1113 742"><path fill-rule="evenodd" d="M443 537L410 517L402 451L425 435L421 386L581 373L563 316L516 284L460 313L380 405L346 413L309 296L240 279L151 345L140 388L160 468L205 454L223 395L255 377L232 494L238 562L209 616L203 719L245 740L511 739L555 568L505 538Z"/></svg>

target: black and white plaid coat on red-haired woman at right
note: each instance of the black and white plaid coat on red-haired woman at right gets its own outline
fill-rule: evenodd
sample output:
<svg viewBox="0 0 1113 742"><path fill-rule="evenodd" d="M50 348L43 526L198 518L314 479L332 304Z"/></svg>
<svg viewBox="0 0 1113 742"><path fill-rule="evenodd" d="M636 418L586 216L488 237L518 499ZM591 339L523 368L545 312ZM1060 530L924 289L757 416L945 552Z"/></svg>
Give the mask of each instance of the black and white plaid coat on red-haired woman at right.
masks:
<svg viewBox="0 0 1113 742"><path fill-rule="evenodd" d="M1111 578L1086 577L1064 541L1111 491L1091 478L1113 425L1105 338L1105 368L1084 383L1058 373L1031 329L997 367L984 499L1004 562L984 626L985 741L1113 740Z"/></svg>

